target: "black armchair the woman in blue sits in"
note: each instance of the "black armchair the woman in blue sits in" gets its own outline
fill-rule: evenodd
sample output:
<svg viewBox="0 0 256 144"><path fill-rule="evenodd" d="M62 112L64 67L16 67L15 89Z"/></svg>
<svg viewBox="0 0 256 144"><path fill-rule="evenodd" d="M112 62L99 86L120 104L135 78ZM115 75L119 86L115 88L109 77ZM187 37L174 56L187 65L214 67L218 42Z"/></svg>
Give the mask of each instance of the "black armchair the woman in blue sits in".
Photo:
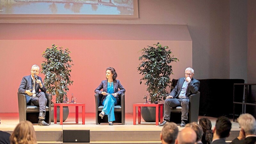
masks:
<svg viewBox="0 0 256 144"><path fill-rule="evenodd" d="M96 124L100 123L108 123L108 116L105 115L103 119L99 116L100 112L103 109L103 106L100 105L100 101L102 98L101 94L96 93L95 95L95 105L96 105ZM119 103L115 106L115 121L113 123L122 123L125 124L125 99L124 93L119 94Z"/></svg>

